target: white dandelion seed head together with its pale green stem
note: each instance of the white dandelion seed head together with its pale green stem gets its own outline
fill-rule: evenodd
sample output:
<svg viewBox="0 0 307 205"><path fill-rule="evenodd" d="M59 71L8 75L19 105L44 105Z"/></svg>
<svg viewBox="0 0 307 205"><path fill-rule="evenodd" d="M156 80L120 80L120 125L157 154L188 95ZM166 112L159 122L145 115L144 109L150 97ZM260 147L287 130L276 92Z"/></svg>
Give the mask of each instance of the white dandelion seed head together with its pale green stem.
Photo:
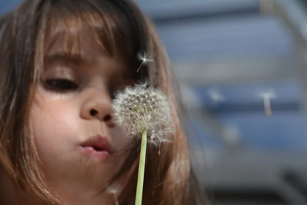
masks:
<svg viewBox="0 0 307 205"><path fill-rule="evenodd" d="M148 81L126 87L118 92L113 102L114 120L130 137L141 137L141 154L136 205L142 202L145 156L147 143L160 146L169 142L172 116L167 97L160 89L148 86Z"/></svg>

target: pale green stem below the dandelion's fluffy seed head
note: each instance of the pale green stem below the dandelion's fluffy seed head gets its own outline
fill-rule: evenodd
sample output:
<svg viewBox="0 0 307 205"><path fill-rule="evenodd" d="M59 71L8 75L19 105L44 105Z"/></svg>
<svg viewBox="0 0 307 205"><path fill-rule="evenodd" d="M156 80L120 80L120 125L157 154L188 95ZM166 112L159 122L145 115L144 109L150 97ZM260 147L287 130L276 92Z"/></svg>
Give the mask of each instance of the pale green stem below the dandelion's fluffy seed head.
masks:
<svg viewBox="0 0 307 205"><path fill-rule="evenodd" d="M142 133L141 154L140 154L139 173L138 173L138 185L137 185L137 195L136 195L135 205L142 204L146 147L147 147L147 131L144 130Z"/></svg>

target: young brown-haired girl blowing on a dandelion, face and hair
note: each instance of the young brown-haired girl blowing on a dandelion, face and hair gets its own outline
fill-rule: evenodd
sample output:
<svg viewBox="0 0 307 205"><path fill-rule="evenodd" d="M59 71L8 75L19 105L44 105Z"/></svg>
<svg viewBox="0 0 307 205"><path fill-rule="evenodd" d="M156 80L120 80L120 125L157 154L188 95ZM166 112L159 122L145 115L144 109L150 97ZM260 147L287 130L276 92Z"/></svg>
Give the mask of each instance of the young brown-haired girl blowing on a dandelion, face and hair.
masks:
<svg viewBox="0 0 307 205"><path fill-rule="evenodd" d="M134 204L140 141L111 104L144 77L168 95L176 131L147 151L143 204L204 204L169 59L135 3L28 0L0 22L0 204ZM155 63L137 72L139 52Z"/></svg>

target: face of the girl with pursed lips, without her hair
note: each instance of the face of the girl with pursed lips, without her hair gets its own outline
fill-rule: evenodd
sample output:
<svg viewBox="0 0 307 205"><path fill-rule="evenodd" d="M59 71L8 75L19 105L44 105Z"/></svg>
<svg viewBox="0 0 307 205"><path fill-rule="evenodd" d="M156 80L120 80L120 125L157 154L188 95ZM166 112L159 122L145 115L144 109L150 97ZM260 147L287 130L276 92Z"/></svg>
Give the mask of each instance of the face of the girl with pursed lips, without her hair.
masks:
<svg viewBox="0 0 307 205"><path fill-rule="evenodd" d="M132 140L112 122L112 96L136 80L96 40L81 39L69 52L61 35L48 47L31 124L52 191L69 204L101 204L100 191L127 156L118 150Z"/></svg>

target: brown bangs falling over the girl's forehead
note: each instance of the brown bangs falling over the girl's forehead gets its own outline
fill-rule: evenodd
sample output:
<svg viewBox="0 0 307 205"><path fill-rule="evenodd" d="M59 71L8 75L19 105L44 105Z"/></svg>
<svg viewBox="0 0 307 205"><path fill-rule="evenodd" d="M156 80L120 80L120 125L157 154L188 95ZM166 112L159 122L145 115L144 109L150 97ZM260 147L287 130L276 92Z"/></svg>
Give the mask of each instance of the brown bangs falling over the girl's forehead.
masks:
<svg viewBox="0 0 307 205"><path fill-rule="evenodd" d="M142 20L128 14L135 12L133 8L124 8L131 5L91 0L54 1L50 5L46 13L45 53L61 39L65 53L80 55L81 42L90 38L101 46L103 54L137 70L137 53L146 50L146 31Z"/></svg>

